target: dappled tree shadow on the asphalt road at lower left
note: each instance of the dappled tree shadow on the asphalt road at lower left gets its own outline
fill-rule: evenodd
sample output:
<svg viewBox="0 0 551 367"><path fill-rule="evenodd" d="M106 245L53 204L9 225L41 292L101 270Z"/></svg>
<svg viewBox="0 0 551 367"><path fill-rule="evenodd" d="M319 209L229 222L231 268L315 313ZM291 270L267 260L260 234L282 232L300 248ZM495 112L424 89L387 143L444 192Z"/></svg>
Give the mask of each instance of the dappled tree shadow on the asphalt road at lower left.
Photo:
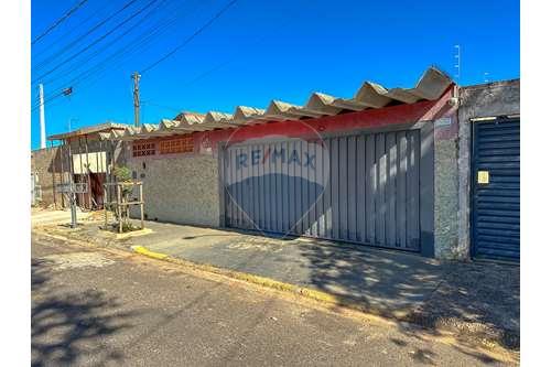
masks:
<svg viewBox="0 0 551 367"><path fill-rule="evenodd" d="M104 292L68 292L52 279L48 261L31 265L32 366L78 364L86 356L95 365L121 363L123 355L107 344L107 337L132 327L116 298ZM39 291L40 290L40 291Z"/></svg>

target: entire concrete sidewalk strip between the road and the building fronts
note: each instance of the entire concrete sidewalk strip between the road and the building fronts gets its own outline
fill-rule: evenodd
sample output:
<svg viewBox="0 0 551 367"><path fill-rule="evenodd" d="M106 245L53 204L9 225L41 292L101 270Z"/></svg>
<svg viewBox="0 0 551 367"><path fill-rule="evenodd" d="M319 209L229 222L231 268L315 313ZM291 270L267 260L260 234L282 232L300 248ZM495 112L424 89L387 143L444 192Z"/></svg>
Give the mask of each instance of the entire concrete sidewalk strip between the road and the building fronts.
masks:
<svg viewBox="0 0 551 367"><path fill-rule="evenodd" d="M303 238L279 239L238 231L148 222L152 233L114 239L98 223L55 233L104 246L169 255L201 265L273 279L324 292L382 316L425 327L462 331L518 347L519 268L444 263L412 253Z"/></svg>

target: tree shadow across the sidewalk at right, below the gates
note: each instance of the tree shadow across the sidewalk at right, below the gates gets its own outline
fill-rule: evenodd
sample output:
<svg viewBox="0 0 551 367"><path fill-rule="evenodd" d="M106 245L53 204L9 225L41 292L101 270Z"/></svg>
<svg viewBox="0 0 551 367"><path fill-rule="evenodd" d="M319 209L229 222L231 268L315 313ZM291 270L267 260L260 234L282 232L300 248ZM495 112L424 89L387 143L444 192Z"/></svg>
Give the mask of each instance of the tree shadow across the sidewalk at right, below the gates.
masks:
<svg viewBox="0 0 551 367"><path fill-rule="evenodd" d="M482 339L508 349L520 346L520 271L497 263L423 262L413 255L363 251L355 247L302 246L309 259L311 282L334 294L343 305L358 300L382 316L411 321L425 332L461 332L465 346ZM379 252L379 253L378 253ZM408 261L411 257L412 261ZM396 261L395 261L396 260ZM433 287L435 284L435 287ZM426 285L433 288L428 292ZM408 315L396 310L419 300ZM403 327L414 335L415 331ZM486 356L480 355L480 360Z"/></svg>

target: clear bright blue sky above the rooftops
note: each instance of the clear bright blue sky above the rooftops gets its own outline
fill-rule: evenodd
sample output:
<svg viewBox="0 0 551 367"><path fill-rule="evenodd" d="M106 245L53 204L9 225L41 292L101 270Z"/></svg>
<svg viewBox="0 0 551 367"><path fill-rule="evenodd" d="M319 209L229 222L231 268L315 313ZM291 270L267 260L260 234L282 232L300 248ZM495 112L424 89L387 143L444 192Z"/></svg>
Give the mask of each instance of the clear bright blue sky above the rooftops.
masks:
<svg viewBox="0 0 551 367"><path fill-rule="evenodd" d="M72 129L106 120L132 123L130 75L171 51L228 2L156 0L148 7L151 1L136 0L84 36L128 2L88 0L32 46L31 105L36 105L39 79L46 99L63 87L74 90L46 104L46 134L66 131L69 120ZM33 0L32 39L76 2ZM142 13L80 52L143 7ZM519 26L519 1L239 0L143 74L141 120L158 123L180 110L264 108L271 99L303 104L316 90L352 97L364 80L410 87L430 65L454 75L455 44L462 47L460 84L517 78ZM156 33L148 37L151 31ZM31 115L34 149L40 144L37 108Z"/></svg>

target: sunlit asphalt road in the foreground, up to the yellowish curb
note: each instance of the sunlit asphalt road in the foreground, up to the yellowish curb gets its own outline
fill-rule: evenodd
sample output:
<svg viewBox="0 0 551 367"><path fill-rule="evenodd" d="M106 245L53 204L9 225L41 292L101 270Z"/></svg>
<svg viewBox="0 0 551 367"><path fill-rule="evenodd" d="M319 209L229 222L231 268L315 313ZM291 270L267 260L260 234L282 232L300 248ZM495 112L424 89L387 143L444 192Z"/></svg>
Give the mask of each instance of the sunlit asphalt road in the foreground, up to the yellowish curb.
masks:
<svg viewBox="0 0 551 367"><path fill-rule="evenodd" d="M501 365L414 328L216 277L34 236L33 365Z"/></svg>

